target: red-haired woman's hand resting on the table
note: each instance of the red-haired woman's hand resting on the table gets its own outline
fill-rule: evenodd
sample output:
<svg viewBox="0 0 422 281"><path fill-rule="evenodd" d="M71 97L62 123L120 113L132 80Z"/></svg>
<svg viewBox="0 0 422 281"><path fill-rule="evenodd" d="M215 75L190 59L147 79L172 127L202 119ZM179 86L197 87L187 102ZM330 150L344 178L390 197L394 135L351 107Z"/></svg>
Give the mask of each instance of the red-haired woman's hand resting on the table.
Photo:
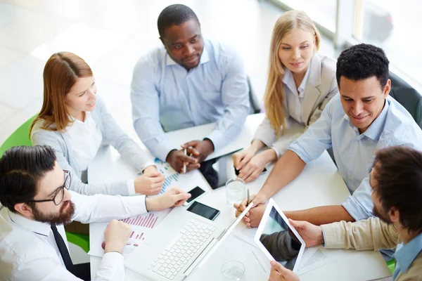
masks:
<svg viewBox="0 0 422 281"><path fill-rule="evenodd" d="M161 191L165 176L157 171L155 166L148 166L143 175L135 178L135 192L144 195L155 195Z"/></svg>

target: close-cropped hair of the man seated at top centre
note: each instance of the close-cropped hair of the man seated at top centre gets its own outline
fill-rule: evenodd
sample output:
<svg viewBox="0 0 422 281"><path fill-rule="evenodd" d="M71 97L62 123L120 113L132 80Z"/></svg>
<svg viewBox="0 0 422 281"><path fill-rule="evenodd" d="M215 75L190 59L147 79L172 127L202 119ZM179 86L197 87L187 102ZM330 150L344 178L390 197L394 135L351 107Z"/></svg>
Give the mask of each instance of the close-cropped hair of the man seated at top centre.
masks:
<svg viewBox="0 0 422 281"><path fill-rule="evenodd" d="M160 37L164 37L164 32L167 28L173 25L181 25L188 20L196 20L199 25L199 20L191 8L182 4L174 4L167 6L158 15L158 33Z"/></svg>

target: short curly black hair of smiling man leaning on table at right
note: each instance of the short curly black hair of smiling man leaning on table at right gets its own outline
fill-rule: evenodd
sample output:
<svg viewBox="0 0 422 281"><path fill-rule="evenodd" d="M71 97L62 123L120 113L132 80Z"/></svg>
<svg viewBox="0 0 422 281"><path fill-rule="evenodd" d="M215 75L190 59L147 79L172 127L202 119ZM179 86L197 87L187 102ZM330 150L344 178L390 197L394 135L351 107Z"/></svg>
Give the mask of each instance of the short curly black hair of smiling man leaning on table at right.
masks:
<svg viewBox="0 0 422 281"><path fill-rule="evenodd" d="M381 89L387 84L390 61L382 48L370 44L358 44L345 49L337 59L338 88L343 76L354 81L364 80L373 76L380 81Z"/></svg>

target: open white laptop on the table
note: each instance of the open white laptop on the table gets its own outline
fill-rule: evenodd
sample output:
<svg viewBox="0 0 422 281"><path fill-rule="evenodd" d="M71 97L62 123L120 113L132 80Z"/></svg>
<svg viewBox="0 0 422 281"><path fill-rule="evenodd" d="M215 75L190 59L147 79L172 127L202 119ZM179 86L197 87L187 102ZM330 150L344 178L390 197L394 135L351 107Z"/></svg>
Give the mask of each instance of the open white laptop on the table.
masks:
<svg viewBox="0 0 422 281"><path fill-rule="evenodd" d="M126 259L124 266L157 281L180 281L215 251L252 204L228 228L186 211L172 209L153 233Z"/></svg>

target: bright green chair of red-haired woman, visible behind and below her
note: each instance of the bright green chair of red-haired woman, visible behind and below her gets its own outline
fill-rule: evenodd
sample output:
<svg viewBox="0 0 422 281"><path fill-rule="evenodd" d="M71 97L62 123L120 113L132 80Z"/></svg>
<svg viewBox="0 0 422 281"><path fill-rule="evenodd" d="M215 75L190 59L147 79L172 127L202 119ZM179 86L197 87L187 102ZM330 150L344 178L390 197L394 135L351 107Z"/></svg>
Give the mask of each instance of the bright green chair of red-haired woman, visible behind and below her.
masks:
<svg viewBox="0 0 422 281"><path fill-rule="evenodd" d="M20 127L16 129L0 146L0 158L6 150L13 148L13 146L32 145L30 139L30 126L35 117L36 115L28 119L24 124L20 125ZM89 235L66 233L66 236L68 237L68 242L81 247L86 252L89 251Z"/></svg>

